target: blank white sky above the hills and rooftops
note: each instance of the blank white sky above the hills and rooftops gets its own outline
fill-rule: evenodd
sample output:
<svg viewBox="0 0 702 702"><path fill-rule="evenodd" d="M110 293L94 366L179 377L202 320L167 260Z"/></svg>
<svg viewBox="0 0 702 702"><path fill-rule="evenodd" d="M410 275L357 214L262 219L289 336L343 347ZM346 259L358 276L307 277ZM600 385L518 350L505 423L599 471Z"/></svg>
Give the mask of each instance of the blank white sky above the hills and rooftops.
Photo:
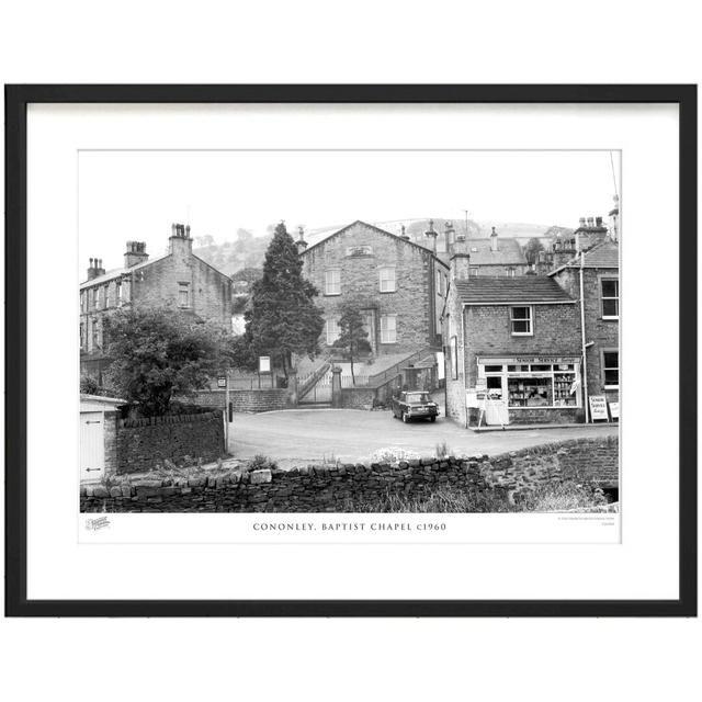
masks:
<svg viewBox="0 0 702 702"><path fill-rule="evenodd" d="M610 151L81 151L80 278L90 257L121 267L127 240L162 253L174 222L217 242L281 219L292 231L462 220L464 210L479 222L574 227L607 217L613 194Z"/></svg>

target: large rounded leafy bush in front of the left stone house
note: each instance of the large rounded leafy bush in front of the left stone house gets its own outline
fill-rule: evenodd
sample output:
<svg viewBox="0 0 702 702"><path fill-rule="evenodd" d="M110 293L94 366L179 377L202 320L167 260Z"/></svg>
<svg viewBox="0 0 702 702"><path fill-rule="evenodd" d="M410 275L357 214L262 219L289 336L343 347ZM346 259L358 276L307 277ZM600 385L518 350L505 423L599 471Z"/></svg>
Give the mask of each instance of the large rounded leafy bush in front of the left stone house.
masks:
<svg viewBox="0 0 702 702"><path fill-rule="evenodd" d="M106 384L138 403L147 416L165 415L176 390L205 387L230 365L230 338L217 325L171 307L118 309L105 317Z"/></svg>

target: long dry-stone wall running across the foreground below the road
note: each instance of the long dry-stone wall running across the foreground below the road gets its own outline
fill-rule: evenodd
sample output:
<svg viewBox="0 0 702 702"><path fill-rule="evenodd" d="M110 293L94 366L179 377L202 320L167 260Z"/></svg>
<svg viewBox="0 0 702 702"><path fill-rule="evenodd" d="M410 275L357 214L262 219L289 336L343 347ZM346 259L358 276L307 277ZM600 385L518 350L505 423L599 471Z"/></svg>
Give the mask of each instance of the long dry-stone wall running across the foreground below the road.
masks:
<svg viewBox="0 0 702 702"><path fill-rule="evenodd" d="M510 499L550 482L619 485L616 437L579 439L489 457L427 457L396 464L213 471L83 486L81 512L349 512L388 494L410 498L452 486L503 490Z"/></svg>

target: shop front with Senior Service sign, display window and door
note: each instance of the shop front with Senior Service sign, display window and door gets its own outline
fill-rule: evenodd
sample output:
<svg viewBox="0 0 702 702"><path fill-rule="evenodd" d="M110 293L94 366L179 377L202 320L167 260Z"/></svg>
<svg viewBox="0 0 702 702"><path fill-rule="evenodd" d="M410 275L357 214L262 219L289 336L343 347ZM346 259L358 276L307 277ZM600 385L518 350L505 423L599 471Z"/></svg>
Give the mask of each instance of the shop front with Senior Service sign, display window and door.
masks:
<svg viewBox="0 0 702 702"><path fill-rule="evenodd" d="M478 356L476 385L485 388L487 423L585 420L579 356Z"/></svg>

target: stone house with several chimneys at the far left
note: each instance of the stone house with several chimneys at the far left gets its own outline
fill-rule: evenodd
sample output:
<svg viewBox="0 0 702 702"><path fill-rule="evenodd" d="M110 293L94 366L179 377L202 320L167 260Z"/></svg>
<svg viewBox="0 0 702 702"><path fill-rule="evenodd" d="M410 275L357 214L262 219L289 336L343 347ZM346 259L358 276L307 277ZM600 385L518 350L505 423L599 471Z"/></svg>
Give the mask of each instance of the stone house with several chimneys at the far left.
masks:
<svg viewBox="0 0 702 702"><path fill-rule="evenodd" d="M127 241L124 265L105 271L90 259L80 284L81 372L99 376L104 355L104 316L121 307L171 306L182 314L231 328L231 280L192 252L190 227L172 225L168 252L151 258L141 241Z"/></svg>

